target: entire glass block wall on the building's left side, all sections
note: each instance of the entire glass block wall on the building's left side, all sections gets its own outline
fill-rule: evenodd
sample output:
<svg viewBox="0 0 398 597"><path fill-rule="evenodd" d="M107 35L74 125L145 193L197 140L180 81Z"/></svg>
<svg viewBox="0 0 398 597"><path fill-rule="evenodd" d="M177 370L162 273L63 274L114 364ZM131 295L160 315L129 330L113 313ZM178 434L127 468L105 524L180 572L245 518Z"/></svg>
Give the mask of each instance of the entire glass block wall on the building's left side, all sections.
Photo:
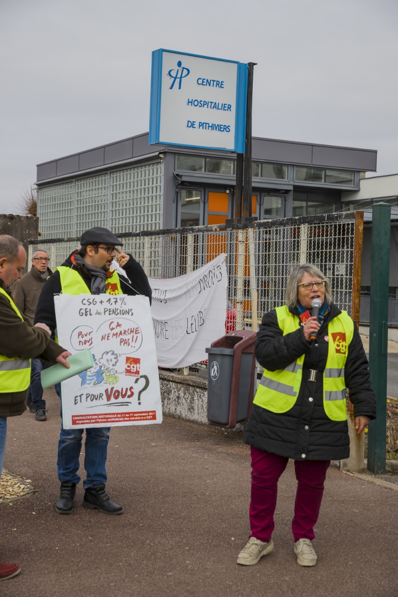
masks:
<svg viewBox="0 0 398 597"><path fill-rule="evenodd" d="M161 227L162 163L106 171L38 189L42 238L79 236L92 226L112 232Z"/></svg>

